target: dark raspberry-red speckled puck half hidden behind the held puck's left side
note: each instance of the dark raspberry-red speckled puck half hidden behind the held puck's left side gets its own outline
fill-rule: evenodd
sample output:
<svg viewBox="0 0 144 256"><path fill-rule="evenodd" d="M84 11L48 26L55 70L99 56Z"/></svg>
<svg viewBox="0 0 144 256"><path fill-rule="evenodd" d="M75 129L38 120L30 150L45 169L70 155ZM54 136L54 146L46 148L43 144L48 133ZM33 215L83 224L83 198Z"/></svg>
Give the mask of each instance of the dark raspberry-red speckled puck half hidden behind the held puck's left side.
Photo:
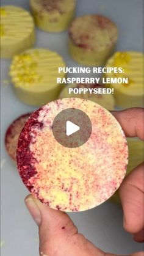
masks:
<svg viewBox="0 0 144 256"><path fill-rule="evenodd" d="M18 137L27 119L32 113L23 114L13 121L5 133L5 148L10 158L16 161L16 147Z"/></svg>

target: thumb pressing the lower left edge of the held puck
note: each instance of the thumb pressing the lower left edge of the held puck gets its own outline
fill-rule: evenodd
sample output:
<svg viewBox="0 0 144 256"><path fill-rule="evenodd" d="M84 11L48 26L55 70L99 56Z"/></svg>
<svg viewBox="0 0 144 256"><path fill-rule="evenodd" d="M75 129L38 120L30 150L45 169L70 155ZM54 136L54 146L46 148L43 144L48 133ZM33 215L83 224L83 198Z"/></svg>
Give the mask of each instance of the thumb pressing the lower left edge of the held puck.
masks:
<svg viewBox="0 0 144 256"><path fill-rule="evenodd" d="M78 233L68 214L46 207L32 195L26 197L25 203L39 227L40 256L105 255Z"/></svg>

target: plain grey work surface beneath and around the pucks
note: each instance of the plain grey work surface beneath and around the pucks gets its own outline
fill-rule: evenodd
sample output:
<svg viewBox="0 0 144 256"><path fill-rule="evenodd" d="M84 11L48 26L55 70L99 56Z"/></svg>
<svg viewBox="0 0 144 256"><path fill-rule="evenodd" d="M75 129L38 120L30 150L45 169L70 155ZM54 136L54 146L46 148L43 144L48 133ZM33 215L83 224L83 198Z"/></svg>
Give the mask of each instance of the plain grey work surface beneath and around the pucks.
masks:
<svg viewBox="0 0 144 256"><path fill-rule="evenodd" d="M69 0L70 1L70 0ZM76 15L102 13L118 25L120 36L117 48L142 51L143 0L77 0ZM15 4L29 9L29 1L2 0L1 5ZM47 47L62 54L68 66L77 66L70 59L67 49L68 33L48 34L37 30L38 47ZM1 81L8 78L9 60L1 62ZM5 152L4 134L7 126L19 115L34 111L18 101L12 84L1 82L1 248L2 256L37 256L38 230L24 205L28 194L15 165ZM83 213L70 214L71 218L89 240L104 251L114 254L131 254L142 250L142 244L132 241L123 230L121 207L111 202Z"/></svg>

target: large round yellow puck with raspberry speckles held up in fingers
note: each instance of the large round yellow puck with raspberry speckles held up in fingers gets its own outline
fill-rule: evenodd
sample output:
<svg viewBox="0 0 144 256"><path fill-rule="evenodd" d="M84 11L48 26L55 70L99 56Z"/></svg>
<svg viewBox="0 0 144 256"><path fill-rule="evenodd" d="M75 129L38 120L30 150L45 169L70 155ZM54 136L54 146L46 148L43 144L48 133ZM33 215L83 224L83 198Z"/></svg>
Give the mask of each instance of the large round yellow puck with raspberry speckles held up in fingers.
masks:
<svg viewBox="0 0 144 256"><path fill-rule="evenodd" d="M56 141L52 124L65 109L85 112L92 133L80 147ZM128 145L109 111L81 98L52 101L35 111L20 134L16 159L20 176L41 202L62 211L84 211L109 199L126 174Z"/></svg>

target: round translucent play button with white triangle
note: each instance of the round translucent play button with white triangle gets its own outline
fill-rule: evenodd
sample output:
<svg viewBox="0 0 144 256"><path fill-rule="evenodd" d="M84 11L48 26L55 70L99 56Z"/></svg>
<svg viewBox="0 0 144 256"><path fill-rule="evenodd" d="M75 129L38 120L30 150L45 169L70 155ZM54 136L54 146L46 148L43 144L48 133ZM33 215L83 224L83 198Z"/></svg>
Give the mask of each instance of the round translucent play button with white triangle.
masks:
<svg viewBox="0 0 144 256"><path fill-rule="evenodd" d="M92 133L92 123L85 112L68 108L56 115L52 133L56 141L64 147L80 147L88 141Z"/></svg>

